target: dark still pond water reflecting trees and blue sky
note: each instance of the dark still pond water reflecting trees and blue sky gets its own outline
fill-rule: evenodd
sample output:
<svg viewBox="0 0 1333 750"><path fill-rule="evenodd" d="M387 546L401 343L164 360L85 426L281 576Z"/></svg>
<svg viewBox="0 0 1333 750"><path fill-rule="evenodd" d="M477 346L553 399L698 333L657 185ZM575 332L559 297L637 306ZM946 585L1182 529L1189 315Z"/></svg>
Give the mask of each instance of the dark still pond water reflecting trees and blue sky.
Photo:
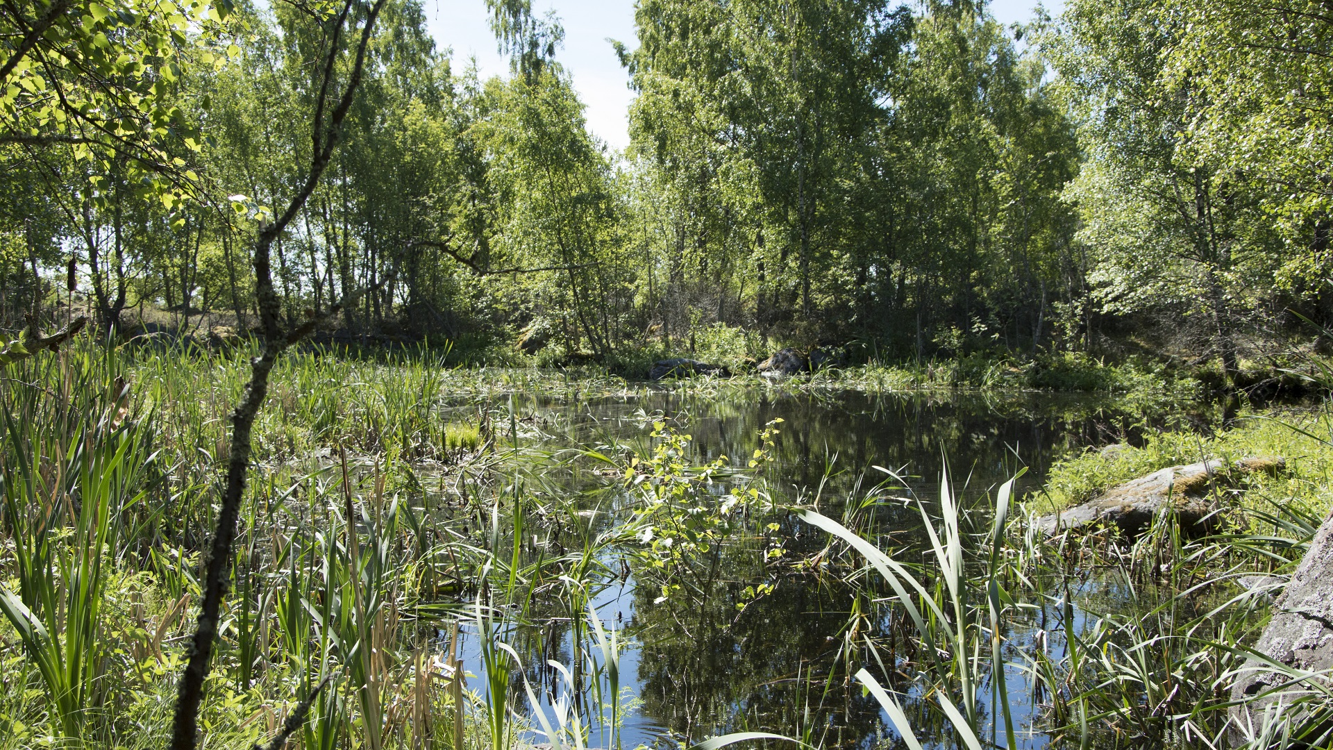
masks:
<svg viewBox="0 0 1333 750"><path fill-rule="evenodd" d="M545 426L528 439L548 450L560 448L563 442L647 450L649 423L661 420L693 438L689 458L694 464L726 456L736 467L754 451L760 430L781 419L774 460L764 476L769 491L781 503L818 503L825 514L837 516L890 479L874 467L892 470L901 482L890 480L880 490L881 502L873 511L881 543L890 539L896 555L906 560L921 560L925 554L920 511L884 498L917 496L934 507L941 468L948 464L960 502L989 507L986 498L1020 470L1025 470L1018 480L1021 496L1041 486L1058 458L1086 446L1136 442L1150 426L1145 415L1121 411L1105 396L1052 394L661 390L616 398L520 399L515 408L528 423ZM576 475L573 482L623 486L619 478L597 479L592 472ZM782 532L789 535L786 548L805 555L816 555L828 542L825 534L794 520L784 522ZM619 673L632 710L623 717L624 747L698 742L741 730L804 735L829 747L865 747L881 738L892 743L893 730L874 699L849 681L856 667L848 666L873 658L860 639L869 642L901 629L901 614L894 615L882 599L866 601L825 577L773 577L762 554L760 544L718 550L702 563L708 569L700 573L704 583L693 587L693 594L686 586L685 593L670 597L640 585L624 563L608 560L608 569L621 574L608 577L592 603L625 643ZM772 590L754 597L754 589L765 585ZM573 658L569 629L559 625L568 625L569 613L548 611L531 621L543 618L540 627L509 633L551 717L551 699L561 695L552 687L559 687L557 670L532 665L579 659ZM858 627L864 629L860 634ZM1020 647L1032 633L1008 635L1010 647ZM484 694L475 629L465 631L461 653L467 670L477 675L469 679L469 689ZM1022 694L1024 679L1014 673L1006 682L1014 710L1024 714L1014 719L1026 726L1032 707ZM515 683L511 693L521 697L521 681ZM605 681L601 687L611 689ZM531 715L525 699L512 707ZM917 718L938 723L924 711ZM595 718L585 721L593 727L591 746L605 746L607 727ZM1040 733L1020 741L1028 747L1045 743Z"/></svg>

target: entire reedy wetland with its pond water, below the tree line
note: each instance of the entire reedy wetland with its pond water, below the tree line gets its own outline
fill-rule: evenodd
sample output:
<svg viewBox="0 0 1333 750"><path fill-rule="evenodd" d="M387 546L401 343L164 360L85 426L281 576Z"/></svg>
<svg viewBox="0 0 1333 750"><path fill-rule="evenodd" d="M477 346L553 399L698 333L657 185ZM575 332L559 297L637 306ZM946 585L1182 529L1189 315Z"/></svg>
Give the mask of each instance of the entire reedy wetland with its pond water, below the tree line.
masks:
<svg viewBox="0 0 1333 750"><path fill-rule="evenodd" d="M303 746L1216 741L1268 607L1234 581L1300 559L1333 458L1312 407L1222 428L1129 394L444 356L275 368L209 743L273 735L324 678ZM247 370L87 344L11 367L5 746L159 742ZM1033 508L1256 452L1300 456L1221 488L1218 535L1033 532Z"/></svg>

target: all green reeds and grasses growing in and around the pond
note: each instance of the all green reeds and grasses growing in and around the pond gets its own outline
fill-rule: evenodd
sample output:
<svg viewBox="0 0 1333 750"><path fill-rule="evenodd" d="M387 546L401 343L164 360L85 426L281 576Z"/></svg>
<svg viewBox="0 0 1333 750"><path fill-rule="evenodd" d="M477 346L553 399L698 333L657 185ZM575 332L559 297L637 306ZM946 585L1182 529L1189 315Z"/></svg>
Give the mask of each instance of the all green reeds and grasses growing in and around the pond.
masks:
<svg viewBox="0 0 1333 750"><path fill-rule="evenodd" d="M1176 406L1180 388L1128 367L1106 370L1081 370L1076 382L1148 383L1141 400L1114 395L1136 411ZM552 735L567 747L615 746L633 707L617 701L629 635L591 602L632 574L640 587L661 590L656 603L639 601L644 613L721 602L736 618L762 610L784 586L850 602L841 646L810 666L820 674L812 671L808 690L821 683L829 699L836 681L852 681L838 689L848 695L865 686L874 699L868 715L882 709L901 737L960 747L981 747L978 738L996 731L1045 733L1070 747L1118 737L1172 742L1182 731L1226 741L1234 727L1224 686L1242 669L1268 607L1264 590L1236 581L1278 582L1333 499L1333 442L1317 407L1245 407L1226 426L1214 411L1202 430L1146 430L1138 446L1068 456L1026 498L1010 482L965 507L946 483L909 504L934 535L901 547L881 528L880 514L901 504L904 484L893 475L872 471L856 494L816 510L798 498L788 504L753 474L774 460L773 440L790 426L756 435L753 459L709 463L692 459L689 435L661 416L643 418L640 439L571 444L568 427L513 406L515 394L559 402L648 387L708 395L890 391L882 384L902 382L866 372L649 386L455 367L421 351L280 359L255 426L204 737L211 746L268 742L328 679L295 735L304 747L368 746L372 726L381 747L455 747L460 737L467 747L517 747ZM200 530L216 514L201 500L215 492L224 418L245 375L240 350L107 350L89 339L8 366L0 747L160 742L199 595ZM1001 400L1014 392L990 383ZM1184 539L1169 516L1132 540L1029 531L1044 510L1154 468L1256 454L1286 456L1286 470L1229 490L1224 535ZM583 488L563 479L588 475L603 479ZM708 488L716 482L729 487L721 496ZM616 496L628 504L588 515ZM898 560L922 543L932 562ZM708 560L717 555L749 560L741 570L753 583L741 590L713 578ZM1214 585L1198 585L1209 577ZM1122 586L1136 591L1132 601L1114 594ZM543 646L551 635L541 623L553 615L569 623L573 654ZM459 626L464 639L489 634L480 662L453 661L459 637L440 634ZM928 655L936 649L942 657ZM43 666L41 654L55 666ZM545 654L565 659L556 682L588 701L581 709L528 714L541 705L537 693L556 689L533 685L524 667ZM1134 654L1152 658L1124 661ZM865 671L886 663L898 666ZM465 686L452 679L455 669L468 671ZM1001 673L1006 679L996 681ZM1004 682L1041 698L1012 710ZM1324 731L1318 695L1293 697L1297 709L1265 719L1277 723L1264 731ZM813 746L842 742L816 725L788 726L804 727L794 738ZM761 738L729 741L742 739Z"/></svg>

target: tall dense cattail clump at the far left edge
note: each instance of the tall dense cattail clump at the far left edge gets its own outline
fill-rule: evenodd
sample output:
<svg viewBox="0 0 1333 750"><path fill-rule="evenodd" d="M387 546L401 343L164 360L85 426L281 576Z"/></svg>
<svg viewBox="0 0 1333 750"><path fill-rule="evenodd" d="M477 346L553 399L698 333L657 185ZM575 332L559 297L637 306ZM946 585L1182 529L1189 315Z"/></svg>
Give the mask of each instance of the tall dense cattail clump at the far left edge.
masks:
<svg viewBox="0 0 1333 750"><path fill-rule="evenodd" d="M0 589L0 611L37 665L49 719L69 739L84 734L103 687L101 609L113 555L151 514L137 507L151 471L151 420L127 419L129 394L84 362L55 386L4 392L0 462L3 524L17 593ZM29 370L32 372L32 370ZM64 398L61 398L64 396Z"/></svg>

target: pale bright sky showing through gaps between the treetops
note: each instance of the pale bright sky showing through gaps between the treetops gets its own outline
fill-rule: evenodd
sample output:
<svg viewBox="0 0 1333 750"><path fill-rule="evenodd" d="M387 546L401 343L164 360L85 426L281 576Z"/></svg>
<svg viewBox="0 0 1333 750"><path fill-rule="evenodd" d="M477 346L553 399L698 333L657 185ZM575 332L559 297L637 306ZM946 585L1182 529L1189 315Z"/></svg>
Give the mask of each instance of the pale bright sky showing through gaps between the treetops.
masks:
<svg viewBox="0 0 1333 750"><path fill-rule="evenodd" d="M427 27L436 45L453 49L455 71L461 71L476 57L483 77L508 75L509 61L496 51L485 0L423 0ZM1008 25L1032 19L1037 0L992 0L990 12ZM1046 9L1056 15L1061 0L1048 0ZM608 145L629 145L629 76L607 39L624 41L631 49L635 39L633 0L533 0L535 13L555 11L565 27L565 47L556 59L573 77L579 97L588 107L588 129Z"/></svg>

